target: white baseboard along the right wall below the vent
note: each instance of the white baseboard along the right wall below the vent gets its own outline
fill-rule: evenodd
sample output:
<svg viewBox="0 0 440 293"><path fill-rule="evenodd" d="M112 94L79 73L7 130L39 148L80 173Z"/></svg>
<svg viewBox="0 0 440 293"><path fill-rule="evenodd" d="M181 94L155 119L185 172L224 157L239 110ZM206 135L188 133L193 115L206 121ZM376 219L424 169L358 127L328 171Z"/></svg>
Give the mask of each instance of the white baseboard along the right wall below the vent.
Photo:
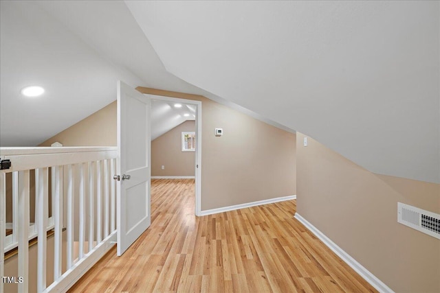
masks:
<svg viewBox="0 0 440 293"><path fill-rule="evenodd" d="M358 261L353 259L353 257L351 257L348 253L342 250L342 248L336 245L336 243L331 241L329 237L327 237L326 235L324 235L324 233L319 231L318 228L310 224L307 220L305 220L305 218L301 217L301 215L295 213L295 218L296 220L301 222L301 224L303 224L306 228L308 228L311 231L311 233L314 233L316 237L318 237L322 242L324 242L324 244L328 248L330 248L333 251L333 253L336 253L338 257L340 257L343 261L345 261L345 263L347 263L351 268L353 268L355 272L360 274L360 276L364 278L365 281L369 282L374 288L376 288L377 291L387 292L387 293L394 292L384 282L380 281L380 279L377 279L377 277L375 277L374 274L372 274L369 270L364 268L364 266L358 263Z"/></svg>

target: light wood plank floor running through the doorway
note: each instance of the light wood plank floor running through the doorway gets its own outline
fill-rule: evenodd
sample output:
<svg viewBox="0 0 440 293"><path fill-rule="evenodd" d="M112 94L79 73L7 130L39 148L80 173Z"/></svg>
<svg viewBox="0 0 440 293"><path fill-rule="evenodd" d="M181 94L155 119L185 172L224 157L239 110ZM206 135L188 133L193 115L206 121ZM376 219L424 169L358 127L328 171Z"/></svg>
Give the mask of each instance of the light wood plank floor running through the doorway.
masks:
<svg viewBox="0 0 440 293"><path fill-rule="evenodd" d="M152 180L151 227L70 292L376 292L294 219L296 201L195 217L194 180Z"/></svg>

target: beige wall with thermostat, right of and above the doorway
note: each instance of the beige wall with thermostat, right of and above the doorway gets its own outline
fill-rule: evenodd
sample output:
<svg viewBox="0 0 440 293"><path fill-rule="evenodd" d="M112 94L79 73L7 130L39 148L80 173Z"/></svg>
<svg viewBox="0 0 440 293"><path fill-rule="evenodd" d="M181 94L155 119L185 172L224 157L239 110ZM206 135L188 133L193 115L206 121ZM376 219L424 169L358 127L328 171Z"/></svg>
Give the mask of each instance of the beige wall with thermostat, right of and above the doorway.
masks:
<svg viewBox="0 0 440 293"><path fill-rule="evenodd" d="M295 134L199 95L137 90L202 102L202 211L296 194Z"/></svg>

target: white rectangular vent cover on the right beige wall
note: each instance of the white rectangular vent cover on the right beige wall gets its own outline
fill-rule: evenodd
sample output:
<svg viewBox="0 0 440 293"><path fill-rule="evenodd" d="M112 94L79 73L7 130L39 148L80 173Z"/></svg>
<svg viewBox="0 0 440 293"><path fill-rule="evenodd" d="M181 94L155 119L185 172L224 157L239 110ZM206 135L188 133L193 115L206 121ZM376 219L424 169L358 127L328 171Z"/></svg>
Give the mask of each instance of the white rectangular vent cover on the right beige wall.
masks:
<svg viewBox="0 0 440 293"><path fill-rule="evenodd" d="M440 239L440 215L397 202L397 222Z"/></svg>

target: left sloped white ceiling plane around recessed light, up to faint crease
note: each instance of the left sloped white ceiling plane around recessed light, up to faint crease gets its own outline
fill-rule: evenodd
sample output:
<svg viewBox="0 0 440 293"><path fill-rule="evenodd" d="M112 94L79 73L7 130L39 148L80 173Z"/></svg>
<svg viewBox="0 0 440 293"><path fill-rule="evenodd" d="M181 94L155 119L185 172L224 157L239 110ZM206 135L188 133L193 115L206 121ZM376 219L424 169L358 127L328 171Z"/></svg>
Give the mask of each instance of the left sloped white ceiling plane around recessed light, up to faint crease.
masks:
<svg viewBox="0 0 440 293"><path fill-rule="evenodd" d="M142 80L108 62L37 1L0 3L0 143L34 146L115 100L116 81ZM21 89L41 85L38 98Z"/></svg>

